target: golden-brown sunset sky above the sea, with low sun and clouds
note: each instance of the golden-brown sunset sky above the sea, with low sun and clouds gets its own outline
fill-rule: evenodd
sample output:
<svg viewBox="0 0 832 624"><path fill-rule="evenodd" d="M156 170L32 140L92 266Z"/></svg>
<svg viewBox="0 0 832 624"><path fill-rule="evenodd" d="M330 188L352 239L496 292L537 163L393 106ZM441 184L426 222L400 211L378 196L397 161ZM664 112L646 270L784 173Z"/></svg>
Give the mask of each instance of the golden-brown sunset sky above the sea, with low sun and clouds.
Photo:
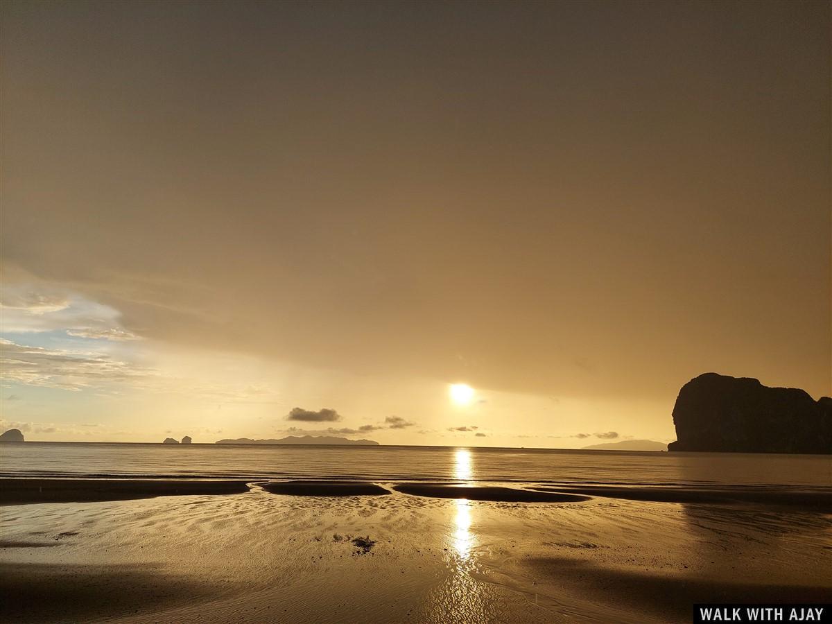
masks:
<svg viewBox="0 0 832 624"><path fill-rule="evenodd" d="M580 448L675 439L707 371L830 395L829 32L3 2L0 424Z"/></svg>

